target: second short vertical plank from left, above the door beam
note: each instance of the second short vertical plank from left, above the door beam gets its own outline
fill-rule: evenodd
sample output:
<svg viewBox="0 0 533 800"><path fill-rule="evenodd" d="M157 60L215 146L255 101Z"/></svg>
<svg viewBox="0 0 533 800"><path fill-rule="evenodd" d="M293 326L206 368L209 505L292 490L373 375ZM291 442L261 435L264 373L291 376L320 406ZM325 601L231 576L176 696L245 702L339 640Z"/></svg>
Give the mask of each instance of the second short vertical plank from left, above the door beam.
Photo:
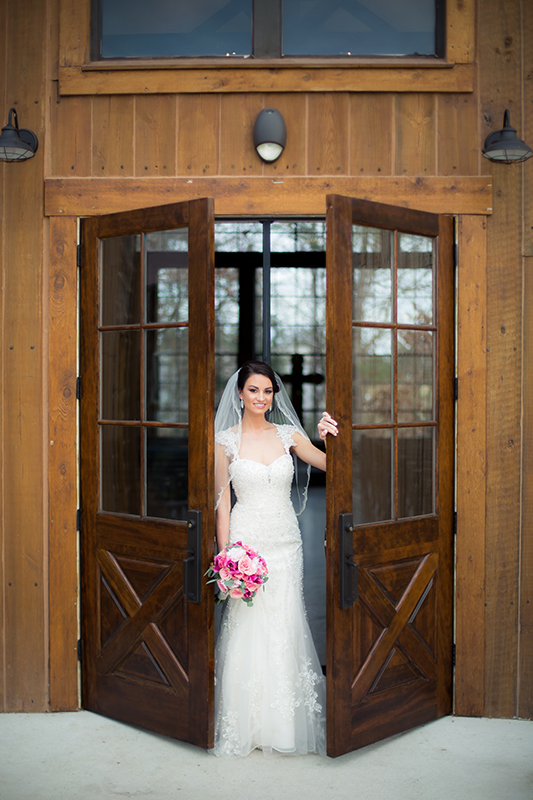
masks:
<svg viewBox="0 0 533 800"><path fill-rule="evenodd" d="M93 98L93 175L133 175L133 98Z"/></svg>

